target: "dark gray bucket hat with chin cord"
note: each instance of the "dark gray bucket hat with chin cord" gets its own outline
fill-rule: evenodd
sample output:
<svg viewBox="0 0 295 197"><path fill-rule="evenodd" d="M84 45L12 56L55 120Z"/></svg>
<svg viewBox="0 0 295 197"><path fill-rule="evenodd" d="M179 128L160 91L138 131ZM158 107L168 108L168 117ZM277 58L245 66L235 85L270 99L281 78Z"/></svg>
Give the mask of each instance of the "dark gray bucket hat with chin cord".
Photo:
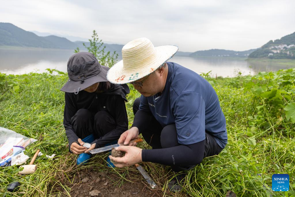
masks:
<svg viewBox="0 0 295 197"><path fill-rule="evenodd" d="M75 53L68 61L68 82L60 90L78 94L80 90L97 82L107 82L106 74L108 70L108 67L99 64L92 53Z"/></svg>

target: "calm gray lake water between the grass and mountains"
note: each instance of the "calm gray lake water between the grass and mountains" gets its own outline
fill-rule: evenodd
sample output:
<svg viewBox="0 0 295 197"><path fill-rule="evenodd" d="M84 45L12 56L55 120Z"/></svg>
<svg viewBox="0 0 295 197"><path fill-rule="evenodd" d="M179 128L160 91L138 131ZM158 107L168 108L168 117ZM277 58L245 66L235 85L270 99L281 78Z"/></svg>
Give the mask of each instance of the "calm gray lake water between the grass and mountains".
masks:
<svg viewBox="0 0 295 197"><path fill-rule="evenodd" d="M47 68L65 72L68 58L71 55L73 55L73 50L0 48L0 72L6 74L42 73L46 72L45 69ZM271 64L260 65L257 62L250 63L245 58L174 56L169 61L185 66L198 74L211 71L211 75L214 77L233 77L238 72L241 72L243 75L255 74L258 71L276 71L286 69L287 67Z"/></svg>

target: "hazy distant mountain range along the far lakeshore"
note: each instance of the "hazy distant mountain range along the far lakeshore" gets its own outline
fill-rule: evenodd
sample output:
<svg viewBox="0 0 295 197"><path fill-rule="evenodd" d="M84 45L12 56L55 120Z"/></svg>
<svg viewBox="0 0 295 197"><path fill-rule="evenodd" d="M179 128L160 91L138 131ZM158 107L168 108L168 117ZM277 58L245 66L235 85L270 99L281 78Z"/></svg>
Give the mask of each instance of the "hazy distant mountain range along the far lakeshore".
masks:
<svg viewBox="0 0 295 197"><path fill-rule="evenodd" d="M40 32L36 32L36 33L38 33L39 35L42 34ZM67 38L59 37L56 35L48 35L46 33L43 33L42 35L47 35L47 36L38 36L33 32L25 31L11 23L0 22L0 45L37 47L37 48L57 48L57 49L71 49L71 50L74 50L77 47L79 47L82 51L86 50L86 48L83 46L83 43L85 43L86 46L89 46L89 42L83 42L83 41L72 42L68 40ZM253 58L256 58L256 57L274 58L274 57L277 57L280 52L277 52L278 54L275 54L276 52L273 52L273 51L274 50L278 51L276 47L278 45L284 46L283 44L285 44L286 47L289 47L290 45L292 47L292 44L295 44L295 32L291 35L287 35L281 38L281 40L275 40L274 42L271 40L258 49L250 49L248 51L210 49L205 51L196 51L193 53L178 51L176 53L176 56L190 56L190 57L197 57L197 56L248 57L249 56ZM106 51L110 51L110 52L117 51L117 53L119 54L119 58L121 57L121 50L123 45L106 44L106 43L104 43L104 45L106 46ZM293 48L288 50L283 50L283 49L280 49L280 50L282 50L281 55L282 54L285 55L286 58L294 57L292 56L294 54ZM273 55L269 55L270 53L272 53Z"/></svg>

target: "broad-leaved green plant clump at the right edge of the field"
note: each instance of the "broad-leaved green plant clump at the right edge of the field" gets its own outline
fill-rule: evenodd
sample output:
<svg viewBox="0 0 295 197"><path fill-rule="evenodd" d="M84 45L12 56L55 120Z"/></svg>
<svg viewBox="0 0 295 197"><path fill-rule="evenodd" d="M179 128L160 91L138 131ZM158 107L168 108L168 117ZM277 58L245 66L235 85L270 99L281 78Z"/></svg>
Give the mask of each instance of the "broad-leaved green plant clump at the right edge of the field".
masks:
<svg viewBox="0 0 295 197"><path fill-rule="evenodd" d="M245 79L245 90L253 92L255 113L250 126L291 131L295 123L295 68L276 72L260 72Z"/></svg>

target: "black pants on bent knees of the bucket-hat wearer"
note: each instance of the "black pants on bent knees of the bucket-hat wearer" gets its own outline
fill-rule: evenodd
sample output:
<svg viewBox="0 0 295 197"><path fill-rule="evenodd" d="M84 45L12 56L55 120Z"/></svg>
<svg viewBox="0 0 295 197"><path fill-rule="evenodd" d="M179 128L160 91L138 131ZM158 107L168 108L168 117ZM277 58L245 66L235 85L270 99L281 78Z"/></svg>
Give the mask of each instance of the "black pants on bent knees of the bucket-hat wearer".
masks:
<svg viewBox="0 0 295 197"><path fill-rule="evenodd" d="M106 111L99 111L94 116L87 109L79 109L71 118L71 124L76 135L84 139L91 133L95 139L104 136L116 128L114 118Z"/></svg>

